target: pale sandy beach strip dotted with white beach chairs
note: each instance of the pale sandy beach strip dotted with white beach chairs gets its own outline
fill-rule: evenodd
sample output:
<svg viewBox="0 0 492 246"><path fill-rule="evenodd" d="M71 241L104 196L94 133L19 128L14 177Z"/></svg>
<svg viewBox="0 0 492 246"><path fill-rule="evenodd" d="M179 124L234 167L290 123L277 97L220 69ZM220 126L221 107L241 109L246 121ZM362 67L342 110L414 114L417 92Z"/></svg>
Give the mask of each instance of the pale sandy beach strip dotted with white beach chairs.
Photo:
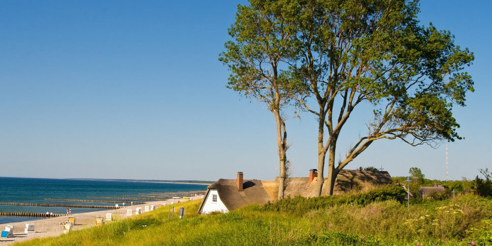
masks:
<svg viewBox="0 0 492 246"><path fill-rule="evenodd" d="M192 197L192 199L196 200L199 199L200 197L201 196L194 196ZM70 215L71 217L75 217L75 226L73 226L72 230L81 230L84 228L95 226L95 217L102 216L103 218L106 218L106 213L115 213L118 214L120 218L127 218L130 217L126 215L127 209L132 209L132 213L133 213L132 216L138 216L135 215L135 209L138 207L142 208L142 212L144 212L145 206L150 206L150 205L157 206L158 204L162 204L162 203L165 203L167 205L170 204L171 202L176 204L178 203L178 201L184 202L188 200L181 198L181 199L169 199L163 201L152 201L146 204L125 206L124 208L122 207L121 209L115 209L115 210L103 210L103 211L96 211L96 212L73 214ZM177 206L179 206L179 203L177 204ZM60 223L63 223L67 220L68 220L68 216L60 216L60 217L53 217L47 219L0 224L0 230L3 230L6 225L14 226L13 236L10 238L0 238L0 245L14 244L25 240L35 239L35 238L60 236L63 234L63 225ZM27 223L34 224L34 231L35 231L34 233L28 233L28 234L24 233L24 228L26 227Z"/></svg>

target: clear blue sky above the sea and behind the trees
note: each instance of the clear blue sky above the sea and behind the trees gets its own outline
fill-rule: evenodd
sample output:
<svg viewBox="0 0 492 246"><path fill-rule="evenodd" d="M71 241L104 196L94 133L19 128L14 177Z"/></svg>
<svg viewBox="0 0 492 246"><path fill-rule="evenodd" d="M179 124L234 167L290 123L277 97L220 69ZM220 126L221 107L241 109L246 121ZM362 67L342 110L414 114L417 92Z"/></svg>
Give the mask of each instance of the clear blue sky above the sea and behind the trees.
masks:
<svg viewBox="0 0 492 246"><path fill-rule="evenodd" d="M0 8L0 176L216 180L277 175L275 121L225 88L217 61L237 3L4 1ZM476 92L456 108L465 140L449 144L449 176L492 167L492 3L423 1L420 19L475 53ZM357 113L357 112L356 112ZM351 118L344 154L367 115ZM316 167L310 115L287 122L293 176ZM410 167L445 179L444 145L380 141L347 168Z"/></svg>

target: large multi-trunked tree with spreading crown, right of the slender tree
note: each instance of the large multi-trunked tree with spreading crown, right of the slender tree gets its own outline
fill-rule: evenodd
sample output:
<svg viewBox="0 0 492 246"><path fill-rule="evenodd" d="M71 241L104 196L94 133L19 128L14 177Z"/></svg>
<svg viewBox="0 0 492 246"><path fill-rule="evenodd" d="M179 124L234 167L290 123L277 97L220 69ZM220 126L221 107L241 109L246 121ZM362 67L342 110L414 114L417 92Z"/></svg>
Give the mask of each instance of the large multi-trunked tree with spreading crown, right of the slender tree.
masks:
<svg viewBox="0 0 492 246"><path fill-rule="evenodd" d="M417 20L417 0L300 0L298 58L290 63L299 105L318 120L321 195L328 153L329 194L338 172L379 139L435 146L461 139L454 105L473 91L462 69L473 54L449 31ZM299 90L301 89L301 90ZM335 162L338 137L354 110L373 107L366 135Z"/></svg>

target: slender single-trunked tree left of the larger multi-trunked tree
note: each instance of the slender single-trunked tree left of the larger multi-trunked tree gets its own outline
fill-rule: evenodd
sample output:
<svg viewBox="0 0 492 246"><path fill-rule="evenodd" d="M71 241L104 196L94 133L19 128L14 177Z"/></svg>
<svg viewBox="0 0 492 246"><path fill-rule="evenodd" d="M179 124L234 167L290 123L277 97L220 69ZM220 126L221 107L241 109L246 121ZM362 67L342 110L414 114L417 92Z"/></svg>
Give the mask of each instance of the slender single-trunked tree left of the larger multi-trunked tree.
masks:
<svg viewBox="0 0 492 246"><path fill-rule="evenodd" d="M288 63L296 57L293 11L299 7L288 0L250 0L238 5L236 21L229 29L231 41L219 60L229 67L228 87L266 103L276 122L279 158L278 198L283 198L287 131L283 108L292 98Z"/></svg>

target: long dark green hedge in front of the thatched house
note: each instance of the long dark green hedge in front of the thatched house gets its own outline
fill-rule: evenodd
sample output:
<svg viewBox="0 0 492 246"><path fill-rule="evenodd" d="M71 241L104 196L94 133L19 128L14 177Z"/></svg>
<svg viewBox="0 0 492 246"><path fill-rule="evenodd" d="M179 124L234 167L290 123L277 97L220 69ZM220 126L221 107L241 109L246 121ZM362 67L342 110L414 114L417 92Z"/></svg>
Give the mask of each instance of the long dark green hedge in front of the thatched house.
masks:
<svg viewBox="0 0 492 246"><path fill-rule="evenodd" d="M265 204L263 210L304 214L311 210L319 210L342 204L366 206L369 203L377 201L398 200L401 202L405 193L402 187L389 184L361 194L309 198L302 196L296 196L294 198L287 197L274 203L269 202Z"/></svg>

